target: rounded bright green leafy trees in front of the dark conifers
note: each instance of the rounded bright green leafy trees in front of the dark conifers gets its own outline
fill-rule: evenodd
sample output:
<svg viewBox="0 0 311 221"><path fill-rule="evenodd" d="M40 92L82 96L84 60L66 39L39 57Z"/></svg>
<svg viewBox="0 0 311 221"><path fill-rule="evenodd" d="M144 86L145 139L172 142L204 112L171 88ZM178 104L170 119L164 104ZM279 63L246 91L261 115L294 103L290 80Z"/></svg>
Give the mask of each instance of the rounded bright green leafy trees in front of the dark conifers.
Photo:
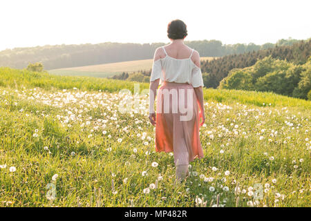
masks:
<svg viewBox="0 0 311 221"><path fill-rule="evenodd" d="M218 88L268 91L311 100L311 57L305 64L294 64L270 55L254 66L230 70Z"/></svg>

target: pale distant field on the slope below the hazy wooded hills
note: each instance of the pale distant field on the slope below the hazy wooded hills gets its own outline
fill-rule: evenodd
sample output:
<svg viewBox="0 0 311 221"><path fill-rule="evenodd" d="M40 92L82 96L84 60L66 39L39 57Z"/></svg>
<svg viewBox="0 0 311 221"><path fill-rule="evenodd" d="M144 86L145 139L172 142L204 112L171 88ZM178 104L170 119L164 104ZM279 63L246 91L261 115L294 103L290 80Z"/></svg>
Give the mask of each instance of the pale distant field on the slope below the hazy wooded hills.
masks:
<svg viewBox="0 0 311 221"><path fill-rule="evenodd" d="M214 57L201 57L201 60L204 61L211 59L214 59ZM122 72L133 73L138 70L149 70L152 68L152 61L153 59L122 61L109 64L53 69L48 70L48 72L54 75L110 77L121 74Z"/></svg>

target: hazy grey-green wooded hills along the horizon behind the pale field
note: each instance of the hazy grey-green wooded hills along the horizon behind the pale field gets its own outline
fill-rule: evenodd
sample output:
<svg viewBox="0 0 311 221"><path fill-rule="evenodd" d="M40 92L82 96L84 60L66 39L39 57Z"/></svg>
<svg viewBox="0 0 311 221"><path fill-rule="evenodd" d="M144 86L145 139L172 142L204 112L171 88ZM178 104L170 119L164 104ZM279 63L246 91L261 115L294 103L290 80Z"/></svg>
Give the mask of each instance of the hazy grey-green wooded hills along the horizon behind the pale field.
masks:
<svg viewBox="0 0 311 221"><path fill-rule="evenodd" d="M185 41L189 47L200 52L201 57L223 57L225 55L253 52L275 46L294 44L296 39L281 39L276 44L222 44L217 40ZM156 48L164 43L132 44L105 42L102 44L79 44L14 48L0 51L0 66L26 68L28 64L40 62L47 70L70 68L111 62L152 59Z"/></svg>

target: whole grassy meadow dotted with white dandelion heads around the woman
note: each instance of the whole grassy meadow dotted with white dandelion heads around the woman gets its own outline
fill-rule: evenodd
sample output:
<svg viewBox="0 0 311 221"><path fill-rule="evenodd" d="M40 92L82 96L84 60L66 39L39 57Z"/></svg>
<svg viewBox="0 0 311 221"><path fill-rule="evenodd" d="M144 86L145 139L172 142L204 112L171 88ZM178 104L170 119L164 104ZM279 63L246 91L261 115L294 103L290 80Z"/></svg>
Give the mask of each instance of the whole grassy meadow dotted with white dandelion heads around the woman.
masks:
<svg viewBox="0 0 311 221"><path fill-rule="evenodd" d="M205 88L205 157L174 184L134 84L0 68L0 206L310 206L310 101Z"/></svg>

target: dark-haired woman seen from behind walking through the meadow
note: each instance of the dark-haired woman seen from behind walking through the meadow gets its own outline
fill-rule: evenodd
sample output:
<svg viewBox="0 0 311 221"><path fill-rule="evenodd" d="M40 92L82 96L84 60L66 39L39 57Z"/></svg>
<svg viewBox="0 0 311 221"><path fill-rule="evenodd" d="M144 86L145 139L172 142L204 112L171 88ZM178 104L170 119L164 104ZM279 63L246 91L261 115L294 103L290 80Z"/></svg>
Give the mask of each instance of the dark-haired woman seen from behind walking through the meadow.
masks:
<svg viewBox="0 0 311 221"><path fill-rule="evenodd" d="M167 33L171 44L157 48L153 57L149 120L156 126L156 151L173 151L176 178L182 181L189 175L189 162L204 156L199 137L199 127L205 122L204 84L200 55L184 44L185 23L179 19L171 21Z"/></svg>

